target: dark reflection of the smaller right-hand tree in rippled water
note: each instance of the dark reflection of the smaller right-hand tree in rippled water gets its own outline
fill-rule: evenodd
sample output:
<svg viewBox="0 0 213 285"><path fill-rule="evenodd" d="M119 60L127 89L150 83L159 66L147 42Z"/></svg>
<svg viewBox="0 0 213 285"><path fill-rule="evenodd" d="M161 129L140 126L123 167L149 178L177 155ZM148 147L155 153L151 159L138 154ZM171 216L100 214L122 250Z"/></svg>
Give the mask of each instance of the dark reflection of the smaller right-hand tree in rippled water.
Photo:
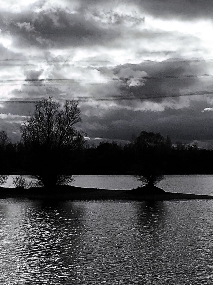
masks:
<svg viewBox="0 0 213 285"><path fill-rule="evenodd" d="M141 271L146 276L144 282L148 279L150 284L156 284L155 278L159 272L164 272L163 263L166 260L164 240L167 209L164 201L145 201L137 206L139 259L143 264Z"/></svg>

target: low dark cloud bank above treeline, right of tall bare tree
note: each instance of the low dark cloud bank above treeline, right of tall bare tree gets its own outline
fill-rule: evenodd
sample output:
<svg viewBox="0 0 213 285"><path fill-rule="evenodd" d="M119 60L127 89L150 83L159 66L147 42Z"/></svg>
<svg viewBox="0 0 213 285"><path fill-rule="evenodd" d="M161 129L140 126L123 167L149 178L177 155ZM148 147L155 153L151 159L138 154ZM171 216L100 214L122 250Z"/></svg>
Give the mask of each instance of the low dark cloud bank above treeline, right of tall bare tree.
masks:
<svg viewBox="0 0 213 285"><path fill-rule="evenodd" d="M189 101L189 106L181 109L165 108L164 111L155 112L108 109L102 117L83 115L82 121L87 122L84 130L89 137L110 139L131 140L132 135L139 135L144 130L160 132L164 137L169 135L174 142L212 140L213 112L202 113L207 106L206 98L194 100ZM95 126L93 126L94 121Z"/></svg>

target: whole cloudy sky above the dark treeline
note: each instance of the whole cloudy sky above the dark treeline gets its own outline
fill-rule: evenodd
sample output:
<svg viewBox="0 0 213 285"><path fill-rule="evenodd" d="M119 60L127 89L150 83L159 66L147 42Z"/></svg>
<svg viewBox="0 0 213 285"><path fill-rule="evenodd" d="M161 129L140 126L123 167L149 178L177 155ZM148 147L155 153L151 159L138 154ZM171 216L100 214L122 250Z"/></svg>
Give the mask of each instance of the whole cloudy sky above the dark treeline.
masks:
<svg viewBox="0 0 213 285"><path fill-rule="evenodd" d="M211 144L212 19L210 0L1 0L0 129L20 139L34 98L86 98L91 141Z"/></svg>

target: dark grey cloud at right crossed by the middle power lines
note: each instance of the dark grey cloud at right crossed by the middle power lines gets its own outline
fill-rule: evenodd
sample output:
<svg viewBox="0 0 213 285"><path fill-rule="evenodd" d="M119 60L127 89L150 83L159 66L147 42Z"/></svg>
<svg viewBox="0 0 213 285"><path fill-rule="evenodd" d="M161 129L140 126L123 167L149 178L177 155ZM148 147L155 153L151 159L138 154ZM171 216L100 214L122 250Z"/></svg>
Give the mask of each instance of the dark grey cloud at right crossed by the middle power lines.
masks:
<svg viewBox="0 0 213 285"><path fill-rule="evenodd" d="M102 86L103 90L108 90L108 95L117 95L128 98L142 97L153 102L164 100L161 96L177 95L180 93L198 92L202 90L212 90L212 77L184 77L185 75L208 74L208 68L213 68L212 62L184 61L181 58L175 62L164 60L162 62L143 62L141 64L124 64L115 68L98 68L104 74L113 74L113 77L125 78L118 84L112 86ZM164 78L164 76L175 76L176 78ZM144 79L144 77L150 77ZM157 78L152 78L157 77ZM141 78L135 79L134 78ZM114 92L114 93L112 93ZM152 97L152 98L151 98ZM154 97L154 98L153 98ZM175 100L176 97L174 97ZM174 99L173 99L174 100ZM123 101L119 104L135 106L134 101Z"/></svg>

